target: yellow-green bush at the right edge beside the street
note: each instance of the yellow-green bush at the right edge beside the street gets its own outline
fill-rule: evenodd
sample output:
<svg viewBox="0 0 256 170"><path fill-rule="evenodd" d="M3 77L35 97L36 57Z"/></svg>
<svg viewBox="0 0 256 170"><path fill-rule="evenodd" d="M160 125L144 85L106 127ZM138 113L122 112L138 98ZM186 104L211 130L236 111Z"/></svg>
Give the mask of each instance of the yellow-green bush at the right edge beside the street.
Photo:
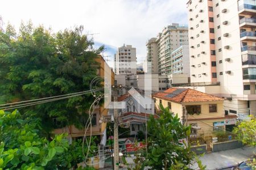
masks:
<svg viewBox="0 0 256 170"><path fill-rule="evenodd" d="M242 121L233 133L237 135L237 139L244 145L256 146L256 118L251 116L250 121Z"/></svg>

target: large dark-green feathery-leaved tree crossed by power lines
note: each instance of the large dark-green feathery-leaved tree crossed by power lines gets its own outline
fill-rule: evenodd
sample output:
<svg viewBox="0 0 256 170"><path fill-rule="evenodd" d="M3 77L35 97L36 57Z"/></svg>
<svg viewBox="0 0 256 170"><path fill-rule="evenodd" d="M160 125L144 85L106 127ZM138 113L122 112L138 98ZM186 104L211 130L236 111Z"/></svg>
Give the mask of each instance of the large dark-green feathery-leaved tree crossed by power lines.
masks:
<svg viewBox="0 0 256 170"><path fill-rule="evenodd" d="M89 90L99 67L95 59L103 47L94 50L93 41L83 31L80 26L52 33L51 29L34 27L31 22L22 23L18 33L10 24L0 30L0 103ZM92 100L87 94L20 111L24 117L36 113L47 132L66 125L82 128Z"/></svg>

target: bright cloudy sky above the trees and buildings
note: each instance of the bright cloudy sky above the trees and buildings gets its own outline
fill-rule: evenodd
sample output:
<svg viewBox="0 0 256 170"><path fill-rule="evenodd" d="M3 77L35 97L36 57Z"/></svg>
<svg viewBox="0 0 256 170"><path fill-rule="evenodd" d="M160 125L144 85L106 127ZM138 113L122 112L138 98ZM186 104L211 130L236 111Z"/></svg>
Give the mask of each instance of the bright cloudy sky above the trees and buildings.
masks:
<svg viewBox="0 0 256 170"><path fill-rule="evenodd" d="M32 20L54 32L84 25L95 47L105 45L104 56L113 61L123 44L137 48L137 62L146 57L146 41L171 24L187 24L187 0L8 0L0 16L19 28Z"/></svg>

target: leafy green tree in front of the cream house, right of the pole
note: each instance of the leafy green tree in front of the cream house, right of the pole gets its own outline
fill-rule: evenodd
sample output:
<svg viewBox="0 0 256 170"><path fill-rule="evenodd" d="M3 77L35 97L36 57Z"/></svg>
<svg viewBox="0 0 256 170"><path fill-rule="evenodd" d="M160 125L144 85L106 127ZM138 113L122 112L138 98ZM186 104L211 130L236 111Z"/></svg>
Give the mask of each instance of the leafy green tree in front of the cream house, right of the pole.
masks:
<svg viewBox="0 0 256 170"><path fill-rule="evenodd" d="M200 169L205 169L190 144L186 143L191 133L190 126L183 126L180 118L172 116L170 109L160 104L160 117L148 121L147 165L152 169L189 169L196 160ZM183 139L183 143L179 140Z"/></svg>

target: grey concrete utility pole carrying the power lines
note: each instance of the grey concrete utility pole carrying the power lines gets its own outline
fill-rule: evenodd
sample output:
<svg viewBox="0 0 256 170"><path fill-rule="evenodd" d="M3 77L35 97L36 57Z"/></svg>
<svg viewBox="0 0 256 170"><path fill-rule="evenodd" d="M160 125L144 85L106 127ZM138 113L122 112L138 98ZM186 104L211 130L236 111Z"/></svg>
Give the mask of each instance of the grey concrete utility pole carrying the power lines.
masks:
<svg viewBox="0 0 256 170"><path fill-rule="evenodd" d="M118 87L114 87L114 102L117 102ZM114 170L119 169L118 109L114 108Z"/></svg>

